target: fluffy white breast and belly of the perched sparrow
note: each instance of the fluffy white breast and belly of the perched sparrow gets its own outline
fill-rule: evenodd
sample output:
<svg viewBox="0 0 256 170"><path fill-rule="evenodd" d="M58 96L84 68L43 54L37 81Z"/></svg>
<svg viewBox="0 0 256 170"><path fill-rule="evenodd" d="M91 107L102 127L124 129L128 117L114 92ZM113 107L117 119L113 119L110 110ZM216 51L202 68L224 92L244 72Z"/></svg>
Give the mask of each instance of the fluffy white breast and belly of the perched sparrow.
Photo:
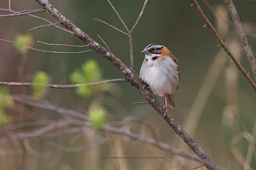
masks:
<svg viewBox="0 0 256 170"><path fill-rule="evenodd" d="M171 57L148 59L141 66L140 78L158 96L173 94L179 86L179 69Z"/></svg>

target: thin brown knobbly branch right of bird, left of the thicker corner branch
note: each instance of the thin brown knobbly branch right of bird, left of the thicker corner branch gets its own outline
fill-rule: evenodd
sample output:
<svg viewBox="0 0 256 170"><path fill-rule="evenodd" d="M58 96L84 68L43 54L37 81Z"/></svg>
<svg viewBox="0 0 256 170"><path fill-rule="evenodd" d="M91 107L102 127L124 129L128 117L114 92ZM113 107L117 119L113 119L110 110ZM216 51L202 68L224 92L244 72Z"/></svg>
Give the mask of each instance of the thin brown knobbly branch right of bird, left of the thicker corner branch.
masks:
<svg viewBox="0 0 256 170"><path fill-rule="evenodd" d="M230 50L228 50L227 45L225 45L224 41L221 39L220 35L218 34L218 32L216 31L216 29L213 27L213 25L211 24L211 22L209 21L209 19L205 16L204 11L202 11L200 5L197 3L196 0L192 0L193 2L193 6L195 6L196 11L198 12L198 14L200 15L200 17L202 18L202 20L204 20L205 24L207 24L207 26L209 27L209 29L211 29L212 34L214 34L214 37L217 39L218 43L221 45L221 47L225 50L225 52L228 54L228 56L230 57L230 59L232 59L232 61L234 62L234 64L236 64L236 67L239 69L239 71L241 71L241 73L243 74L244 78L246 78L246 80L250 83L250 85L252 86L253 90L256 92L256 84L254 83L254 81L252 80L252 78L250 77L250 75L245 71L245 69L243 68L243 66L241 66L241 64L236 60L236 58L234 57L234 55L232 55L232 53L230 52Z"/></svg>

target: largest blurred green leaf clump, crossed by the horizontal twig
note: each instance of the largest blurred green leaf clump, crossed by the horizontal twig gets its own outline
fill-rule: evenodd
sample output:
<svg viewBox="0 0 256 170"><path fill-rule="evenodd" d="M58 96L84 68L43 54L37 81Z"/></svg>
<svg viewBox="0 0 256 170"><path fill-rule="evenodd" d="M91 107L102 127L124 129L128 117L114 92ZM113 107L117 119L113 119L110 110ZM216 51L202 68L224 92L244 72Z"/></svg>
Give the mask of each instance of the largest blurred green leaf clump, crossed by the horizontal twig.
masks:
<svg viewBox="0 0 256 170"><path fill-rule="evenodd" d="M102 80L102 71L95 60L87 60L84 62L81 70L76 70L70 75L70 79L73 83L90 83ZM90 96L95 90L102 89L106 85L100 85L97 87L81 86L76 89L77 94L81 96Z"/></svg>

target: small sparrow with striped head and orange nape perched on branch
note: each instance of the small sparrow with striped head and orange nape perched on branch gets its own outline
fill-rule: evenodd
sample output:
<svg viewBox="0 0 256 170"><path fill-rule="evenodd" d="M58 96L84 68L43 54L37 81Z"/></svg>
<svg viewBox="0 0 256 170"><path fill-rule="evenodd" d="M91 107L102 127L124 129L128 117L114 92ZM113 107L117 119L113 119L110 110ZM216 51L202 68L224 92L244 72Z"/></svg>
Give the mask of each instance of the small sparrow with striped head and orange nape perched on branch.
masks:
<svg viewBox="0 0 256 170"><path fill-rule="evenodd" d="M140 78L147 83L153 94L164 97L164 108L176 107L173 97L179 87L180 71L177 58L166 46L150 44L141 52L145 59L141 65Z"/></svg>

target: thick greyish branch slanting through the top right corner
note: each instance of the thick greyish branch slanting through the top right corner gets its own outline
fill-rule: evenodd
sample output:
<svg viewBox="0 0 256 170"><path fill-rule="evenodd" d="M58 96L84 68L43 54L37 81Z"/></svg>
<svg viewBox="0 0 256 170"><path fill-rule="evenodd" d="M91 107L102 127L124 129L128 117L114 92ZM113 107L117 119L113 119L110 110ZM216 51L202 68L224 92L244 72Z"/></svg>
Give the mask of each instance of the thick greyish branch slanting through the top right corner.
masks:
<svg viewBox="0 0 256 170"><path fill-rule="evenodd" d="M228 11L232 17L232 20L234 22L234 25L236 27L237 33L239 35L241 44L243 46L243 50L247 56L247 59L250 63L250 66L252 68L252 72L254 74L254 78L256 79L256 59L253 55L252 47L248 43L248 39L246 37L246 34L244 33L243 26L241 24L241 20L239 18L239 15L236 10L236 6L233 3L232 0L225 0L225 3L227 4Z"/></svg>

